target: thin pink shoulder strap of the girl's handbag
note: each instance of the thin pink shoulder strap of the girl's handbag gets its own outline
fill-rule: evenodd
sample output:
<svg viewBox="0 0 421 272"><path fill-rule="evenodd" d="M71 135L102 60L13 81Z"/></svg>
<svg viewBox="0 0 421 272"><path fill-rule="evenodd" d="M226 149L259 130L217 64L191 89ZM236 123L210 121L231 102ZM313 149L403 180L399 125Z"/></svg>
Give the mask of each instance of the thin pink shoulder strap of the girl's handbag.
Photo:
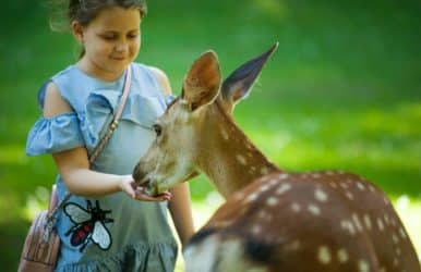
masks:
<svg viewBox="0 0 421 272"><path fill-rule="evenodd" d="M119 124L121 113L123 112L125 101L128 100L128 97L129 97L131 82L132 82L132 70L131 70L131 66L129 65L128 72L125 74L125 82L124 82L123 95L121 97L120 107L117 110L115 118L112 119L112 122L108 126L106 134L99 140L98 145L94 148L94 151L91 153L89 159L88 159L91 165L95 161L95 159L98 158L98 154L104 150L106 144L111 138L112 133L116 131L116 128ZM72 196L71 193L67 193L63 200L61 200L61 202L58 206L48 207L48 221L51 221L51 223L53 223L53 215L56 214L56 212L58 210L63 208L64 203L69 200L69 198L71 196Z"/></svg>

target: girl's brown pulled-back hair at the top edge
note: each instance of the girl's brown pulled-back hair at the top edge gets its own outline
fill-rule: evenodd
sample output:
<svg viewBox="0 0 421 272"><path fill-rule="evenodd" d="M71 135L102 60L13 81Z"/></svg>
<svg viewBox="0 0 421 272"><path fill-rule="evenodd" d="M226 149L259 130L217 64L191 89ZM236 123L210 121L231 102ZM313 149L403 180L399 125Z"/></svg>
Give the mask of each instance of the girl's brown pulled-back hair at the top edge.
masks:
<svg viewBox="0 0 421 272"><path fill-rule="evenodd" d="M147 12L145 0L51 0L51 7L50 27L59 32L69 29L72 21L77 21L81 25L86 26L100 11L111 7L139 9L141 17ZM63 14L64 9L65 14Z"/></svg>

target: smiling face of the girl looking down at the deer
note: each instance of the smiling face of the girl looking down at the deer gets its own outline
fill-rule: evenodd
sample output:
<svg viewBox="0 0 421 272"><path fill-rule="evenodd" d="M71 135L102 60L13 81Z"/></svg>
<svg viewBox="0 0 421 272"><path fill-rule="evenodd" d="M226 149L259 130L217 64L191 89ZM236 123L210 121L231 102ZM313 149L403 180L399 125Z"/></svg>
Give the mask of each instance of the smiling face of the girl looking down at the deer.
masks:
<svg viewBox="0 0 421 272"><path fill-rule="evenodd" d="M75 37L84 45L81 67L105 81L118 78L136 58L141 45L137 9L105 9L87 26L73 23Z"/></svg>

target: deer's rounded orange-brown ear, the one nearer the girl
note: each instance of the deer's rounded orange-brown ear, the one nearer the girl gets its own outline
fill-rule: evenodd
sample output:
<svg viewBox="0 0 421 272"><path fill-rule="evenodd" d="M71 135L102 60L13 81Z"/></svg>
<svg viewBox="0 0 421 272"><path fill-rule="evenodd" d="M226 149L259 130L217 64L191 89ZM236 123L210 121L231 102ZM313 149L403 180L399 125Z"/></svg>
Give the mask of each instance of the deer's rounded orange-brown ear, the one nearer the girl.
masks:
<svg viewBox="0 0 421 272"><path fill-rule="evenodd" d="M182 98L191 111L212 103L219 94L220 71L213 51L203 53L191 66L183 82Z"/></svg>

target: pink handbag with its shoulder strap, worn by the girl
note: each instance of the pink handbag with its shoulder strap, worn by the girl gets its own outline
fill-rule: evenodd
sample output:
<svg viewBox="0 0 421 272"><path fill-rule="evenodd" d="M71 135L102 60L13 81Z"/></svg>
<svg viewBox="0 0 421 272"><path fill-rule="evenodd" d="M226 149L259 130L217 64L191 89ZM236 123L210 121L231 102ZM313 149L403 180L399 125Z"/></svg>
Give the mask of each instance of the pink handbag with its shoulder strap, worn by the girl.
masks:
<svg viewBox="0 0 421 272"><path fill-rule="evenodd" d="M112 133L116 131L125 100L129 96L130 83L131 69L129 66L119 110L110 123L107 133L92 152L89 163L97 158L108 139L111 137ZM64 206L64 202L70 198L70 196L71 194L68 193L60 205L58 205L56 186L52 186L48 211L41 211L36 215L31 225L29 232L26 235L17 271L50 272L55 270L60 254L60 237L55 230L55 214Z"/></svg>

